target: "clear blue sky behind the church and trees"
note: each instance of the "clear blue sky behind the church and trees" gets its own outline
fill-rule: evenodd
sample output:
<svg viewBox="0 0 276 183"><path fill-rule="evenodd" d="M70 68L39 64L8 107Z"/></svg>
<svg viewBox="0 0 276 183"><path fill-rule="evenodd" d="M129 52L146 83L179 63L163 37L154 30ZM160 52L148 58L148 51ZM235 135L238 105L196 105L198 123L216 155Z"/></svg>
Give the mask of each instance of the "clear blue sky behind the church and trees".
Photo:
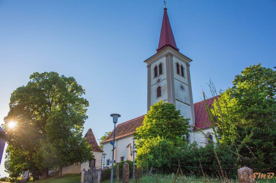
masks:
<svg viewBox="0 0 276 183"><path fill-rule="evenodd" d="M167 12L179 51L193 60L194 102L246 66L276 66L276 1L172 1ZM163 1L0 1L0 122L9 97L33 72L74 77L90 102L85 132L96 138L146 113L146 64L158 47ZM0 166L3 171L2 159Z"/></svg>

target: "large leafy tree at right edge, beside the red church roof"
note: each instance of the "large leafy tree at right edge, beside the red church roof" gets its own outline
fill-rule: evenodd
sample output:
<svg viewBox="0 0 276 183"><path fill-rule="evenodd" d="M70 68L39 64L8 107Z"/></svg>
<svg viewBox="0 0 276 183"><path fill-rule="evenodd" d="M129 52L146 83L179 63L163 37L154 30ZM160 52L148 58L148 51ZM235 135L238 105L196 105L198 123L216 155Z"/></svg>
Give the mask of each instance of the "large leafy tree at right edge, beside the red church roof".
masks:
<svg viewBox="0 0 276 183"><path fill-rule="evenodd" d="M220 143L233 146L241 165L276 168L276 71L246 67L214 103Z"/></svg>

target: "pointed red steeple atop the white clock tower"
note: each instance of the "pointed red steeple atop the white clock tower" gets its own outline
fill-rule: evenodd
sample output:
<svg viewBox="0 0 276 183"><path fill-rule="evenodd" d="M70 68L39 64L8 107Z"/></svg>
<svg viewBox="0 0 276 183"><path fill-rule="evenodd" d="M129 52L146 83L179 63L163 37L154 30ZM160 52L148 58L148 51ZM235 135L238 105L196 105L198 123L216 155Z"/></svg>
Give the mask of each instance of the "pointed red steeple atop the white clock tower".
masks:
<svg viewBox="0 0 276 183"><path fill-rule="evenodd" d="M179 50L176 47L170 20L169 20L168 14L167 14L167 8L164 8L164 15L163 15L161 33L160 33L160 38L159 38L159 45L158 45L158 49L156 49L156 53L160 52L167 46L171 46L174 49L176 49L177 51Z"/></svg>

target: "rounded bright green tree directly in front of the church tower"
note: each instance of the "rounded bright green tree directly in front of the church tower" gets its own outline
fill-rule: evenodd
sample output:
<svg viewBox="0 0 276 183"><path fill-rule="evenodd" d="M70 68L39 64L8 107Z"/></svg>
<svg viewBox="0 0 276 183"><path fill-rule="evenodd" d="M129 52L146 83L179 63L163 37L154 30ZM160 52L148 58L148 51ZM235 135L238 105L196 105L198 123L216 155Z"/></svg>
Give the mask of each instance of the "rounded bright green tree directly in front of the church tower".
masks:
<svg viewBox="0 0 276 183"><path fill-rule="evenodd" d="M177 144L186 143L186 135L189 135L189 119L181 116L180 110L176 110L174 104L159 101L151 106L145 115L143 125L136 128L134 138L139 149L148 139L162 137Z"/></svg>

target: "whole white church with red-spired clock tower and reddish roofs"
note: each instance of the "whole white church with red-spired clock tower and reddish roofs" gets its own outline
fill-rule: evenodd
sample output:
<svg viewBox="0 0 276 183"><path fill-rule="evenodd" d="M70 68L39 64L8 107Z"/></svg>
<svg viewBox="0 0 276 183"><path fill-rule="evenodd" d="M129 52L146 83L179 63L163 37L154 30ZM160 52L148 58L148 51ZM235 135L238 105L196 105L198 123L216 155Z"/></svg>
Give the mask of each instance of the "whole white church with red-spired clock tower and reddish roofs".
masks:
<svg viewBox="0 0 276 183"><path fill-rule="evenodd" d="M159 45L156 54L144 61L147 68L147 110L150 106L163 100L172 103L180 110L181 115L189 118L191 133L187 136L190 143L196 141L199 145L208 143L208 138L213 138L213 130L210 127L204 101L193 103L193 93L190 77L190 63L192 60L182 53L176 46L174 35L170 25L167 8L164 8ZM209 107L214 98L207 99ZM143 125L144 115L125 121L116 126L114 160L116 162L133 160L133 133L136 128ZM197 128L200 128L206 138ZM102 151L106 154L101 161L104 167L110 167L113 154L114 131L102 142Z"/></svg>

